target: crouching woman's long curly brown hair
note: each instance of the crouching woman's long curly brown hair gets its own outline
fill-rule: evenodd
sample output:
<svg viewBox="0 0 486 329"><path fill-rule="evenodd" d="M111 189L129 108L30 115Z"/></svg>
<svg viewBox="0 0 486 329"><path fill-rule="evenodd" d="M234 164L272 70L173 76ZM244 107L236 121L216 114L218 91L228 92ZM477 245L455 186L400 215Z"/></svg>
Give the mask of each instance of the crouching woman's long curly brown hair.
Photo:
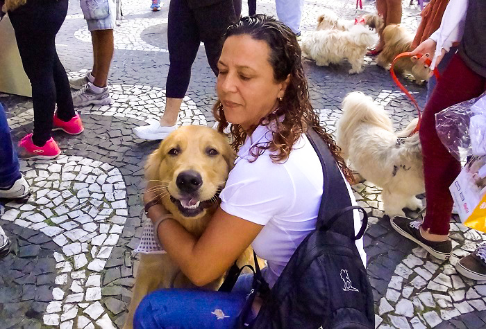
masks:
<svg viewBox="0 0 486 329"><path fill-rule="evenodd" d="M340 148L336 145L333 136L328 134L319 124L319 116L310 105L308 83L305 79L301 60L301 48L296 36L284 24L274 17L258 14L251 17L242 17L240 21L228 27L223 37L223 42L233 35L249 35L255 40L265 41L270 48L269 62L274 70L274 79L283 82L290 75L290 82L285 89L278 109L260 120L260 125L276 124L272 127L273 139L269 143L254 145L250 154L255 161L265 150L271 151L271 159L274 162L284 162L288 159L292 147L301 134L313 128L321 139L326 142L333 154L337 165L344 173L348 181L353 181L351 170L346 166L340 155ZM228 121L224 116L223 105L219 100L212 108L212 112L218 121L218 130L223 132L228 127ZM283 121L278 117L284 115ZM246 132L240 125L231 125L231 146L237 151L246 139Z"/></svg>

